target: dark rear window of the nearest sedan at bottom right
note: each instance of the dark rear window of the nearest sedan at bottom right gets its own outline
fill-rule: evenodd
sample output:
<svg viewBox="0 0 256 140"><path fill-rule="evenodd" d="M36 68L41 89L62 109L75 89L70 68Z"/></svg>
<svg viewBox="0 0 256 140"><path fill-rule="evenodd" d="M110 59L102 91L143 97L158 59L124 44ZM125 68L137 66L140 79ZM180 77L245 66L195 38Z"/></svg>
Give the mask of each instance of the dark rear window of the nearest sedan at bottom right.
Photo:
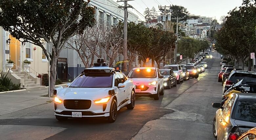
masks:
<svg viewBox="0 0 256 140"><path fill-rule="evenodd" d="M242 121L256 122L256 102L238 101L233 118Z"/></svg>

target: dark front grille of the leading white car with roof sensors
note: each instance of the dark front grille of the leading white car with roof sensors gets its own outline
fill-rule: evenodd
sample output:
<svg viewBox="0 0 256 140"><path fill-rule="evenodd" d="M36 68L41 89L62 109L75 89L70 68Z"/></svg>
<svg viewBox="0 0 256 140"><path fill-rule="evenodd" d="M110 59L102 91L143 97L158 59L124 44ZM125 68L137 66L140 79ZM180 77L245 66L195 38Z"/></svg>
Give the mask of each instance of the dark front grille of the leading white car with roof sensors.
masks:
<svg viewBox="0 0 256 140"><path fill-rule="evenodd" d="M66 109L84 110L91 107L91 100L64 100L64 107Z"/></svg>

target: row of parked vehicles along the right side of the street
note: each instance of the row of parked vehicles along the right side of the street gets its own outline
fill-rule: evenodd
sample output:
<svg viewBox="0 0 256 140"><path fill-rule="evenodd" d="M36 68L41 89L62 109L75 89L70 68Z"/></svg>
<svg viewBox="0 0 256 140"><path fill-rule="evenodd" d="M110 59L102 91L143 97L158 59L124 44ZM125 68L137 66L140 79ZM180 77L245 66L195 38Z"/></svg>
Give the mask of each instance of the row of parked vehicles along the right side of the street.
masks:
<svg viewBox="0 0 256 140"><path fill-rule="evenodd" d="M227 65L222 56L218 82L222 101L213 119L213 135L218 140L256 140L256 72Z"/></svg>

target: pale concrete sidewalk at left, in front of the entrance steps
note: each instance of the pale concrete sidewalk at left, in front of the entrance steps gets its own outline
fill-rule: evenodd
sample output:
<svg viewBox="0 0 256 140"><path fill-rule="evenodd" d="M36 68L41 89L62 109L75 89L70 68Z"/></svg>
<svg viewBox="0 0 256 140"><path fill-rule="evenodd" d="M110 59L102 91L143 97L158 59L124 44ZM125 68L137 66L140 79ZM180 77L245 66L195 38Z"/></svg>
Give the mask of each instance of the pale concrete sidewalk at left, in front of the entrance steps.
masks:
<svg viewBox="0 0 256 140"><path fill-rule="evenodd" d="M49 103L53 98L41 97L48 94L48 88L37 88L25 91L0 94L0 115Z"/></svg>

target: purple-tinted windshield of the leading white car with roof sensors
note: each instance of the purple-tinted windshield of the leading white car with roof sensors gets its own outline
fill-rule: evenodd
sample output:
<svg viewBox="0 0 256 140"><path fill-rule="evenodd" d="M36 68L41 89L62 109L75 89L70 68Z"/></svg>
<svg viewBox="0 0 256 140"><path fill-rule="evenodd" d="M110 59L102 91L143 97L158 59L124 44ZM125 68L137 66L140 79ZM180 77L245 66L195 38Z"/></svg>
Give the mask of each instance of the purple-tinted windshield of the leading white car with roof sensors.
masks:
<svg viewBox="0 0 256 140"><path fill-rule="evenodd" d="M112 87L113 74L88 73L81 74L77 77L69 87Z"/></svg>

